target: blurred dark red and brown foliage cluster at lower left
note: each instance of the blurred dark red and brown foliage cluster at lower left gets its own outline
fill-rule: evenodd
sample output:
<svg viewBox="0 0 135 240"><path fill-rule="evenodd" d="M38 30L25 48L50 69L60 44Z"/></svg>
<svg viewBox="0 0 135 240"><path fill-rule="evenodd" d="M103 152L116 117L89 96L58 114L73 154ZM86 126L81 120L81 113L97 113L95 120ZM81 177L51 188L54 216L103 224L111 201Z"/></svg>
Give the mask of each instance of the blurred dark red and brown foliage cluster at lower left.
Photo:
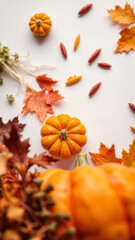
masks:
<svg viewBox="0 0 135 240"><path fill-rule="evenodd" d="M28 157L29 139L21 140L24 127L18 118L6 124L0 119L0 239L56 239L57 227L66 224L70 215L52 213L55 202L49 193L53 186L41 190L39 173L29 169L34 164L46 168L57 160L46 152ZM57 239L69 239L69 232L67 228Z"/></svg>

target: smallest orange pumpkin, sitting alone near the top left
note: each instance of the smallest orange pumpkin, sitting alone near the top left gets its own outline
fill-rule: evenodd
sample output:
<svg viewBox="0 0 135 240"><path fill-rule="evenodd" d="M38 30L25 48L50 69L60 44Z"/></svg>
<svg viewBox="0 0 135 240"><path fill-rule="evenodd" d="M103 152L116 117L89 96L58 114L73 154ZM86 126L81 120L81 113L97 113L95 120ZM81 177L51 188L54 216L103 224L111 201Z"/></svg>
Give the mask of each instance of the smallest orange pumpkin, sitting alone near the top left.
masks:
<svg viewBox="0 0 135 240"><path fill-rule="evenodd" d="M45 13L36 13L33 17L31 17L29 22L30 30L36 36L45 36L47 35L52 26L52 22L49 16Z"/></svg>

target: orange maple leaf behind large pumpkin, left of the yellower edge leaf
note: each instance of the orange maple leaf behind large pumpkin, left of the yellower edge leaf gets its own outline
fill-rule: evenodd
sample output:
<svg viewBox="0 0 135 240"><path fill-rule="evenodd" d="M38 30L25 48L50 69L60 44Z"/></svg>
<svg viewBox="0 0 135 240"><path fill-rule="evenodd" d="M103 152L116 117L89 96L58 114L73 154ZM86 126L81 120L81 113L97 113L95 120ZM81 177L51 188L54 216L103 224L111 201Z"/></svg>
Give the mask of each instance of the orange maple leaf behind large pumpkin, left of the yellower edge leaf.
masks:
<svg viewBox="0 0 135 240"><path fill-rule="evenodd" d="M103 143L100 144L99 153L89 152L94 165L102 165L104 163L122 163L122 159L116 158L114 144L107 148Z"/></svg>

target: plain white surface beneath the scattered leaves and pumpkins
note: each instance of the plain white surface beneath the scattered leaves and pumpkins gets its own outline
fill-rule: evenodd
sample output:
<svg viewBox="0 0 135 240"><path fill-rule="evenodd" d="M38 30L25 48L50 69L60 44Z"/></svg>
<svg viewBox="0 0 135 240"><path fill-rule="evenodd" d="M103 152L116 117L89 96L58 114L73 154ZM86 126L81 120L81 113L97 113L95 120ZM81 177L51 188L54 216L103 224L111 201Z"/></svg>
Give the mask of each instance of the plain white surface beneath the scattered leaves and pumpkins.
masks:
<svg viewBox="0 0 135 240"><path fill-rule="evenodd" d="M123 148L134 139L130 126L135 126L135 114L128 103L135 104L135 52L115 54L119 32L123 26L115 24L109 17L107 9L115 5L125 6L124 0L93 0L93 7L84 16L78 17L78 11L86 4L86 0L1 0L0 1L0 41L12 52L26 55L30 52L29 61L37 65L54 65L53 70L38 71L37 75L46 73L48 77L58 80L55 89L64 99L55 104L55 115L67 113L80 118L86 126L86 152L98 152L100 142L107 147L114 143L117 157L121 157ZM128 0L135 7L133 0ZM47 37L37 38L29 29L30 17L35 13L44 12L52 20L52 29ZM73 44L80 34L80 44L76 52ZM68 52L65 60L60 52L59 44L63 42ZM90 55L98 48L101 54L92 65L88 65ZM98 62L108 62L110 70L97 66ZM76 85L65 86L69 76L82 75ZM20 89L11 105L6 94L15 94L18 83L3 74L4 84L0 86L0 117L6 123L15 116L21 123L26 123L23 139L30 138L30 156L44 150L40 144L42 123L36 114L22 115L25 89ZM36 80L25 76L36 90L40 90ZM102 82L96 94L89 98L88 93L93 85ZM49 117L49 114L48 114ZM60 161L55 167L71 168L73 159Z"/></svg>

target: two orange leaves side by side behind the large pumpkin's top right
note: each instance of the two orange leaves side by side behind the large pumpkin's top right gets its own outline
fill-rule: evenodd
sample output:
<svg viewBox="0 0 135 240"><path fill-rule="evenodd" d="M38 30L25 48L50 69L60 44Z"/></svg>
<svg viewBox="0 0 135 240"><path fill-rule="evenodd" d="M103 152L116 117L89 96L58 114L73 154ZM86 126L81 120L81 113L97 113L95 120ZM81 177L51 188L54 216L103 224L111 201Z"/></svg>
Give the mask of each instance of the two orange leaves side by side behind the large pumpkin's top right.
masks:
<svg viewBox="0 0 135 240"><path fill-rule="evenodd" d="M129 145L129 153L122 150L122 158L117 158L115 154L114 144L107 148L103 143L100 144L99 153L89 152L94 165L102 165L105 163L119 163L124 166L135 167L135 139Z"/></svg>

